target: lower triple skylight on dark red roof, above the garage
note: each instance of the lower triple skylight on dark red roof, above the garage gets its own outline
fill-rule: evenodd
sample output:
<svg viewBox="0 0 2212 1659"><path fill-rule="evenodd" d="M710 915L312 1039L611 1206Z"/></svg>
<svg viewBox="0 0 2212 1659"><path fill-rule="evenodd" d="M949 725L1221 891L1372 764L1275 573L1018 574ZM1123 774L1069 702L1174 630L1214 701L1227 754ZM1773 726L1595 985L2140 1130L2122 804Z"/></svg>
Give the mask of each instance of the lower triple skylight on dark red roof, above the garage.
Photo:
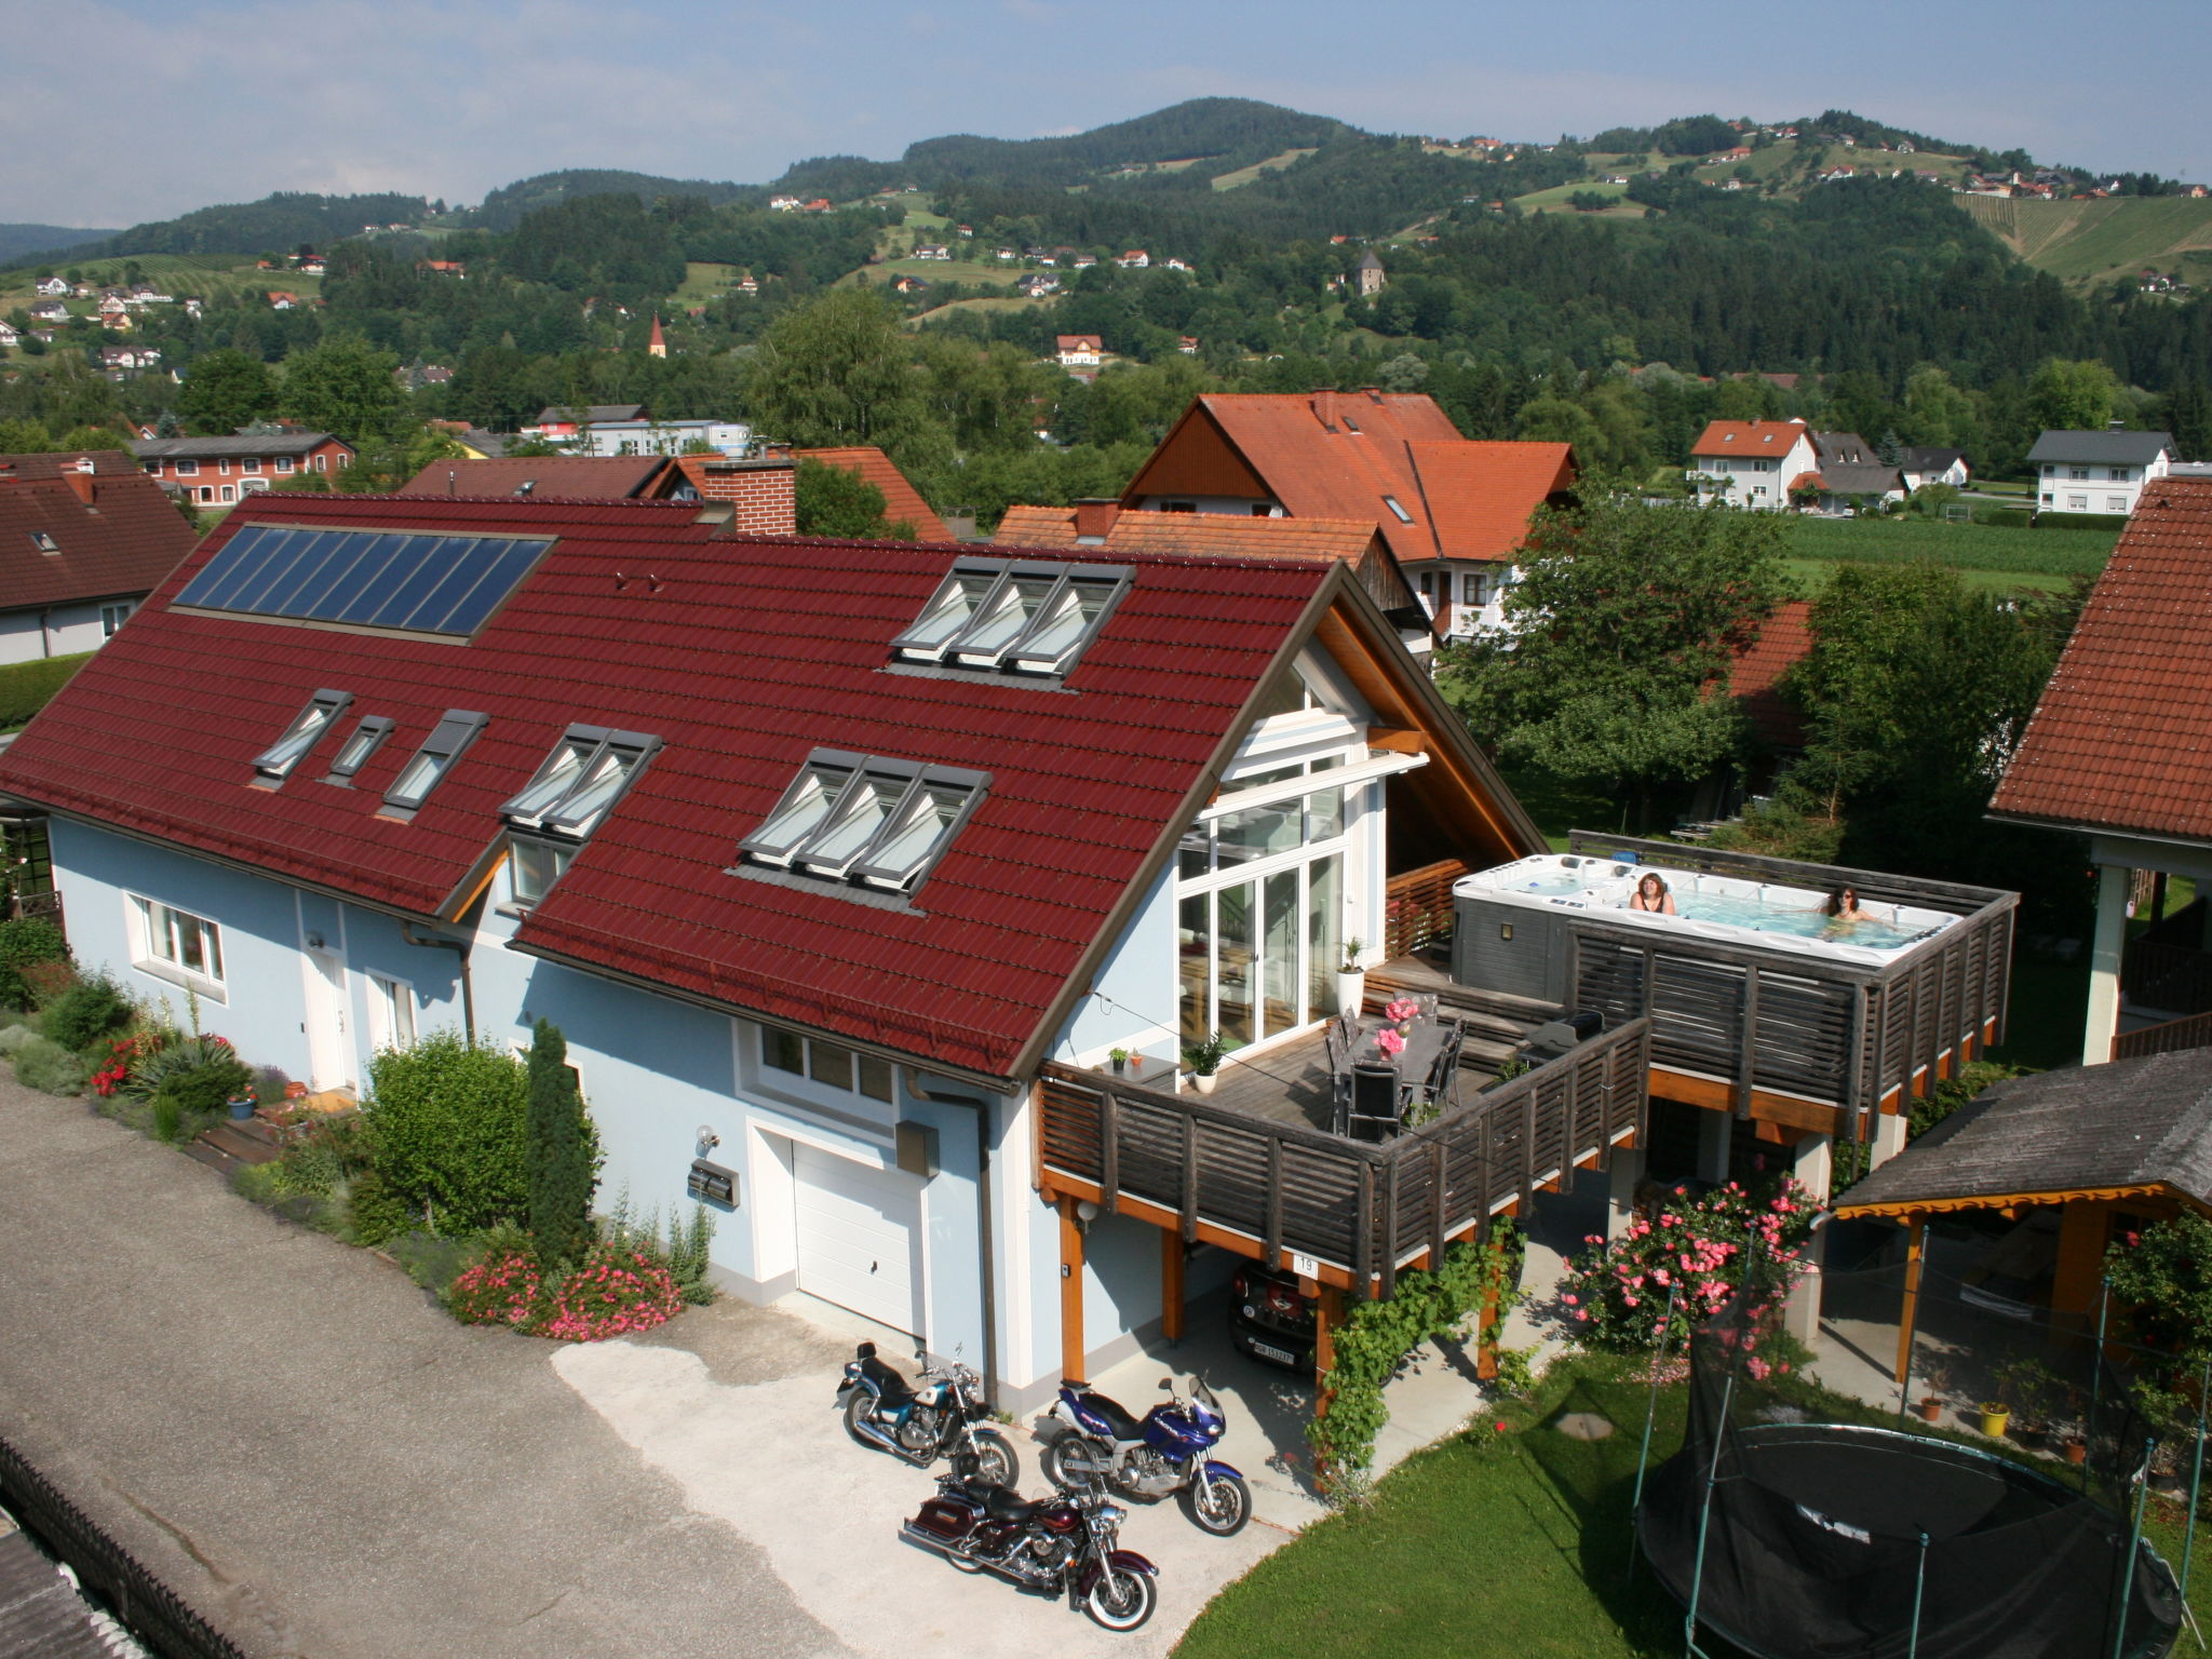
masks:
<svg viewBox="0 0 2212 1659"><path fill-rule="evenodd" d="M911 894L987 785L982 772L814 750L739 852L803 876Z"/></svg>

